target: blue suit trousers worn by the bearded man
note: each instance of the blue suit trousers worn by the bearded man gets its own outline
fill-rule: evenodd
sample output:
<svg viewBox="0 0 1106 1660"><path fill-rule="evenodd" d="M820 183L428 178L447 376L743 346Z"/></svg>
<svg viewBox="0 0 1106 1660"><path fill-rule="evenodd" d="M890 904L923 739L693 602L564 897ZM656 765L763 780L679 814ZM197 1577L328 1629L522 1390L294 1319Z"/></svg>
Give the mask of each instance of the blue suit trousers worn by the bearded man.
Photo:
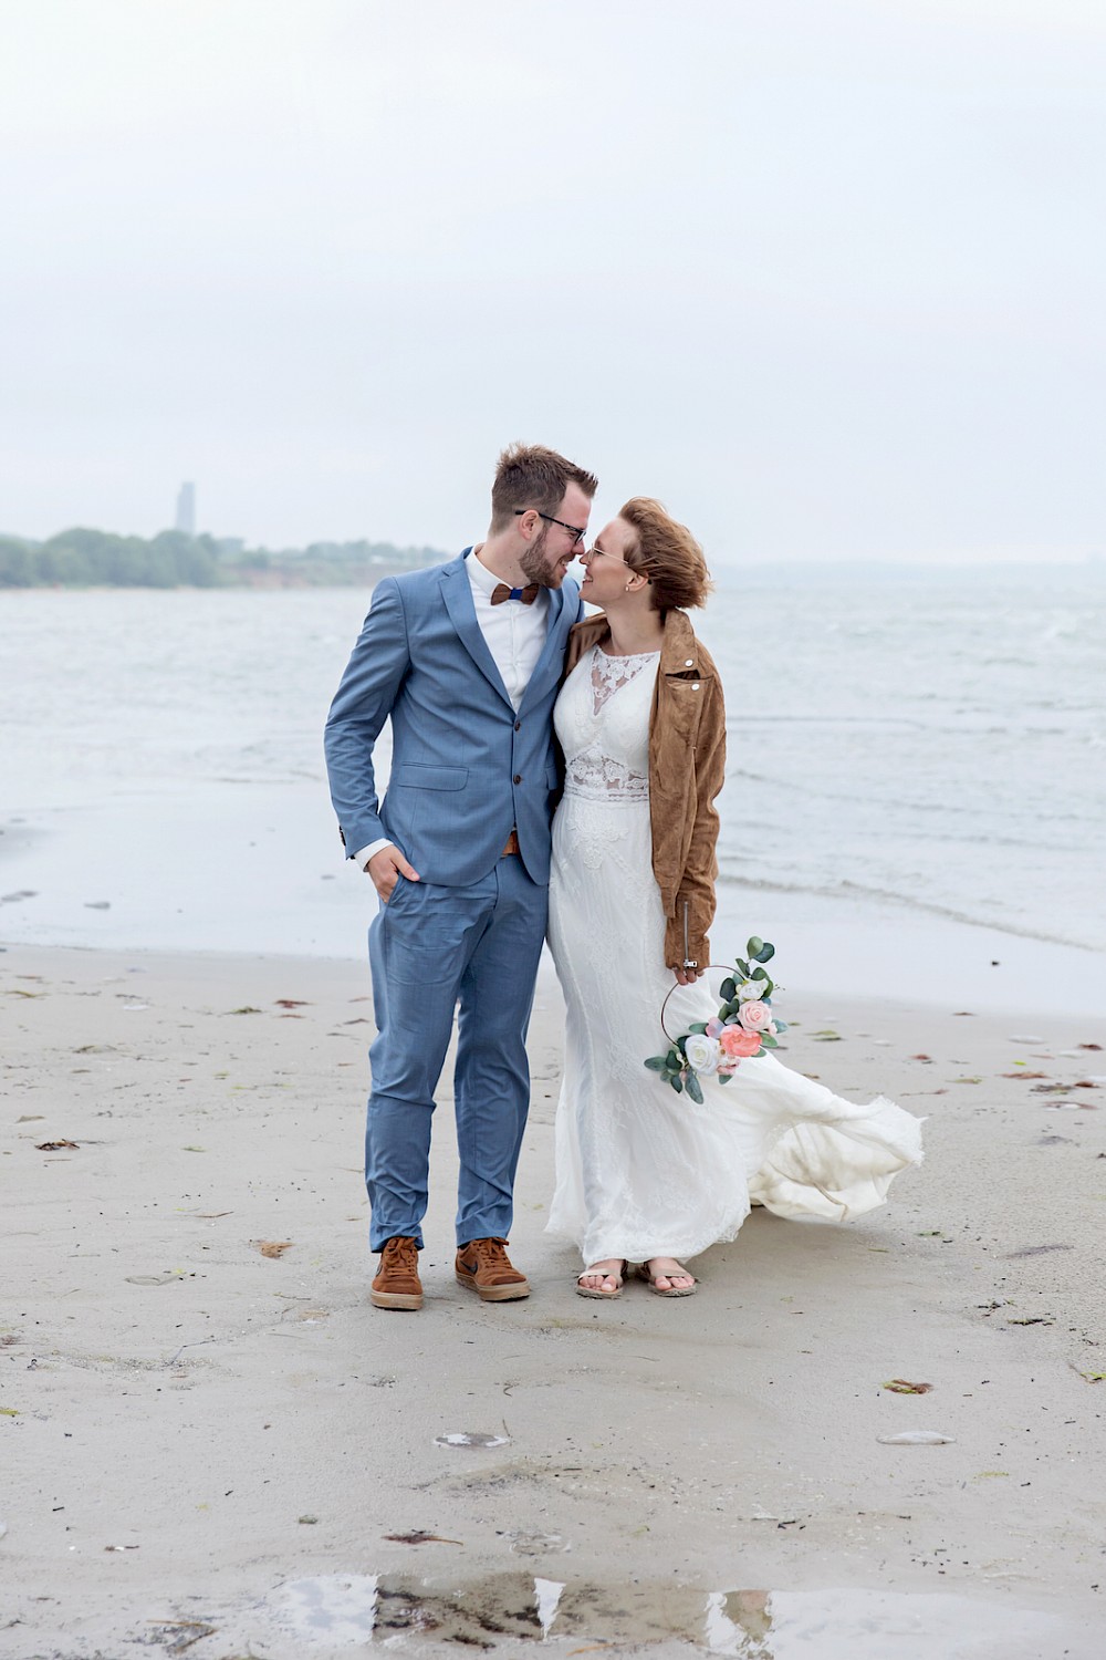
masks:
<svg viewBox="0 0 1106 1660"><path fill-rule="evenodd" d="M549 888L517 857L469 886L396 881L368 931L378 1036L365 1130L371 1250L421 1248L434 1091L458 1011L458 1245L507 1238L531 1101L526 1033Z"/></svg>

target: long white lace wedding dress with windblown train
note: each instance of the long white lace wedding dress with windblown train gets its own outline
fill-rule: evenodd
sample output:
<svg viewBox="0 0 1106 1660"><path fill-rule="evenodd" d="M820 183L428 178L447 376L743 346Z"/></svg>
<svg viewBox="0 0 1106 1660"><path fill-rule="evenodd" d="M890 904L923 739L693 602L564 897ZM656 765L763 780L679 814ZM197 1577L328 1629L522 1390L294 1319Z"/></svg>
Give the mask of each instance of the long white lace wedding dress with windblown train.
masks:
<svg viewBox="0 0 1106 1660"><path fill-rule="evenodd" d="M652 870L648 710L660 654L592 647L557 699L565 792L554 820L549 943L567 1003L549 1232L584 1262L695 1257L735 1238L759 1200L781 1217L839 1222L880 1205L922 1157L920 1125L879 1099L852 1106L773 1056L705 1077L703 1106L643 1061L660 1054L665 918ZM710 1019L705 981L665 1023Z"/></svg>

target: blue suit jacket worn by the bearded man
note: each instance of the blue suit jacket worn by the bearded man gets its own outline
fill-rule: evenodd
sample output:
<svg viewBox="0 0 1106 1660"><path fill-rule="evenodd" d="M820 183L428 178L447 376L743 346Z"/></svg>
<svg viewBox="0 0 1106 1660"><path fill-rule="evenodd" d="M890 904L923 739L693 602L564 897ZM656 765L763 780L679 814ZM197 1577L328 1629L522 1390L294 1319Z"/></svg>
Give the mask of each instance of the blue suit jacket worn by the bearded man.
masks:
<svg viewBox="0 0 1106 1660"><path fill-rule="evenodd" d="M330 798L350 857L386 837L424 881L461 886L492 870L516 828L526 870L546 883L552 706L579 589L549 589L546 644L516 712L476 621L469 553L376 584L327 719ZM390 717L380 802L373 747Z"/></svg>

